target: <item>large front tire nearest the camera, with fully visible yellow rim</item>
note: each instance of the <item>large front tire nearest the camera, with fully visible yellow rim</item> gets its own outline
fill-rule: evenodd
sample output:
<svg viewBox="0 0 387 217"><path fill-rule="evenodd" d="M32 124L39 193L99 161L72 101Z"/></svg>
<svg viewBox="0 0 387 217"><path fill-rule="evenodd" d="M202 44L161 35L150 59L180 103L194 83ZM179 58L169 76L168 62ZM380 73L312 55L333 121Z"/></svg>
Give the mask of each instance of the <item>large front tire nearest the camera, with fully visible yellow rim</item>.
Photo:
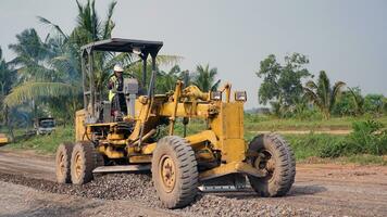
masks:
<svg viewBox="0 0 387 217"><path fill-rule="evenodd" d="M152 180L162 205L180 208L198 192L198 165L189 143L176 136L159 140L152 156Z"/></svg>

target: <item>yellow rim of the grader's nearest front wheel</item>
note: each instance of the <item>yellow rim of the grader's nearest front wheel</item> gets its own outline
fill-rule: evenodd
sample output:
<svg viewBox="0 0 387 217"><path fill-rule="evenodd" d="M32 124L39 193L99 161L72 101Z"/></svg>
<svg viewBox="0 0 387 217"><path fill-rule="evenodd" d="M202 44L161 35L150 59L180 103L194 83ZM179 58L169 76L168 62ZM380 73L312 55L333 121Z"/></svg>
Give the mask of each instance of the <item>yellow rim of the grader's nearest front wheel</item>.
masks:
<svg viewBox="0 0 387 217"><path fill-rule="evenodd" d="M173 191L176 182L176 170L172 157L168 155L161 157L159 169L164 191Z"/></svg>

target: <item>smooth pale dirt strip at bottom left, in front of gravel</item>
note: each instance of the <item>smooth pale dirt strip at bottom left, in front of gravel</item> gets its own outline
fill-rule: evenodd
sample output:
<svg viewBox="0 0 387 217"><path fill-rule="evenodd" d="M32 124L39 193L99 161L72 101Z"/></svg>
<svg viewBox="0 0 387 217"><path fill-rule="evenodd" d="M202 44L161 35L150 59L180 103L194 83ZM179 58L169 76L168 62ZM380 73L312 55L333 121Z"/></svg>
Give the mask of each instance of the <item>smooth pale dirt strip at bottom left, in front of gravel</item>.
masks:
<svg viewBox="0 0 387 217"><path fill-rule="evenodd" d="M0 216L175 216L130 201L109 201L54 194L0 181ZM4 191L5 190L5 191ZM123 208L125 207L125 208Z"/></svg>

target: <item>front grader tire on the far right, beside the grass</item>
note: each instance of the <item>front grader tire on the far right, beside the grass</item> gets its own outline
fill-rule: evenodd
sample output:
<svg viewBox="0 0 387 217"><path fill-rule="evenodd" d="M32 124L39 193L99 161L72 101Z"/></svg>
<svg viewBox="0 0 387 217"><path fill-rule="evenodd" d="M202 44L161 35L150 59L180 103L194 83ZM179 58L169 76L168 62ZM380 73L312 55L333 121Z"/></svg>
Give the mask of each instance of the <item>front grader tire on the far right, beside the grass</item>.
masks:
<svg viewBox="0 0 387 217"><path fill-rule="evenodd" d="M260 135L250 142L249 152L259 154L261 158L248 157L249 163L267 171L264 178L248 176L253 190L265 197L285 195L296 176L295 155L288 143L279 135Z"/></svg>

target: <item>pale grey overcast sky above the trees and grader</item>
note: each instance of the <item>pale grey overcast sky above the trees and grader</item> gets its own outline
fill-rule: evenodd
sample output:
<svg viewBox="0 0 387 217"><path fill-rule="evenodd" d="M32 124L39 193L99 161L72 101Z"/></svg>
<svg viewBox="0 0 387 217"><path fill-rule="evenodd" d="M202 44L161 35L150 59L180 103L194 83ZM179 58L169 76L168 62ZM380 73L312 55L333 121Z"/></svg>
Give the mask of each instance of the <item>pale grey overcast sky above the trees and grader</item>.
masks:
<svg viewBox="0 0 387 217"><path fill-rule="evenodd" d="M80 2L83 2L80 0ZM110 1L97 1L104 17ZM68 0L1 0L0 46L7 60L15 35L34 27L43 38L50 30L40 15L66 33L77 8ZM300 52L313 74L325 69L333 81L360 86L364 93L387 94L387 1L384 0L121 0L113 37L162 40L163 54L184 56L183 69L216 66L219 78L246 89L247 107L258 106L259 63L269 54Z"/></svg>

